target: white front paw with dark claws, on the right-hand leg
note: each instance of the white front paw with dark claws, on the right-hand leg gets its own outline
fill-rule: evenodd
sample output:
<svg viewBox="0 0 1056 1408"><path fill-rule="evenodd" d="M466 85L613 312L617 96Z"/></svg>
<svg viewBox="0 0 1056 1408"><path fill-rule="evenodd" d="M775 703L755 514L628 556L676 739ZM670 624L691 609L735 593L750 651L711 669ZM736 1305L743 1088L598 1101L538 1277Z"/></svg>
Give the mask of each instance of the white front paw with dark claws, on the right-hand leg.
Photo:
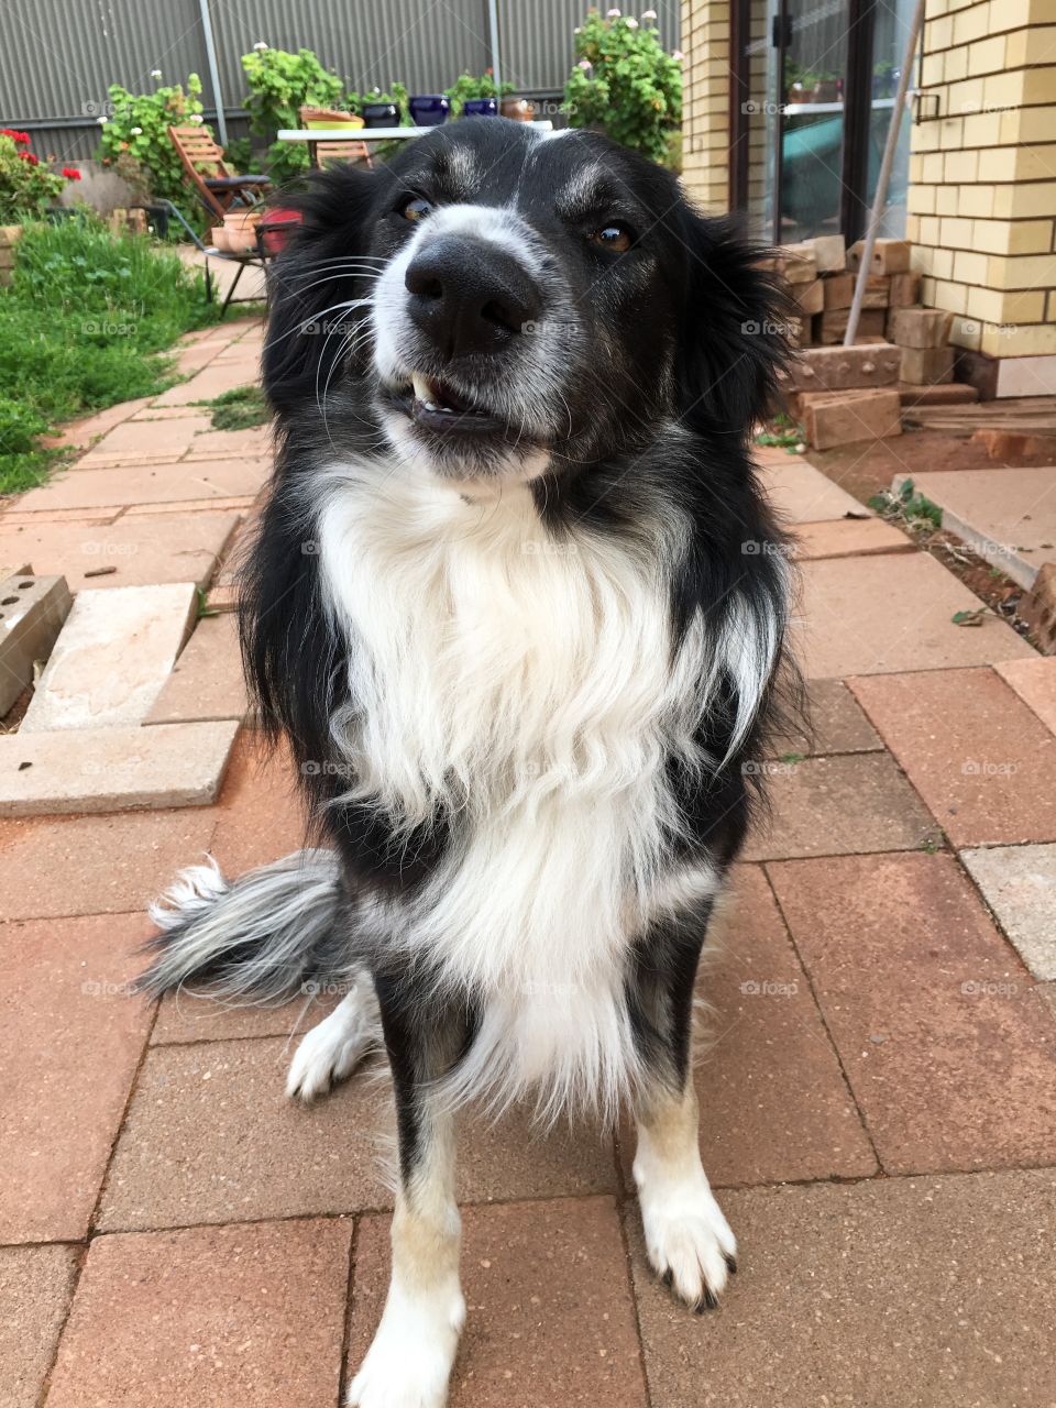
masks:
<svg viewBox="0 0 1056 1408"><path fill-rule="evenodd" d="M718 1305L736 1270L736 1240L701 1170L700 1178L639 1190L653 1270L698 1314Z"/></svg>

